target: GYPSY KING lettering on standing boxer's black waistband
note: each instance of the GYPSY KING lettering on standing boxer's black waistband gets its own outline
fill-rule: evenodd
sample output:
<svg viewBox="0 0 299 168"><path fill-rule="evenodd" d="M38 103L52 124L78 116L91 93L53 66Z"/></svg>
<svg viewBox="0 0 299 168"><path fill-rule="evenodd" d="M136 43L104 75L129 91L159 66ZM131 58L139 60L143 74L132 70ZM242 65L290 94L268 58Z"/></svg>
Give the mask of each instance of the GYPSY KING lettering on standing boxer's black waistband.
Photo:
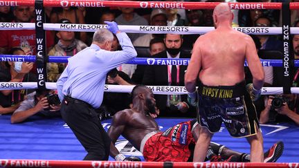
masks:
<svg viewBox="0 0 299 168"><path fill-rule="evenodd" d="M231 98L233 97L233 89L224 89L224 88L210 88L203 86L202 95L215 98Z"/></svg>

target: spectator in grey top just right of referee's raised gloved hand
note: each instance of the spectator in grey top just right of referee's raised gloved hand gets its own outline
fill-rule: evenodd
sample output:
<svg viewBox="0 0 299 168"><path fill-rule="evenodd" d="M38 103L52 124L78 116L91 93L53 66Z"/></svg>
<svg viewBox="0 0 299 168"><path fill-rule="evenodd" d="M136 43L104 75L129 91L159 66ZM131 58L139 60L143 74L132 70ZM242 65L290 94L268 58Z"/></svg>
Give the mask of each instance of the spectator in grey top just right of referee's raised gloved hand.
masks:
<svg viewBox="0 0 299 168"><path fill-rule="evenodd" d="M122 12L118 17L116 17L116 23L118 25L140 25L147 26L148 22L143 17L139 16L134 12L134 8L119 8ZM131 41L136 40L138 37L141 37L142 33L127 33Z"/></svg>

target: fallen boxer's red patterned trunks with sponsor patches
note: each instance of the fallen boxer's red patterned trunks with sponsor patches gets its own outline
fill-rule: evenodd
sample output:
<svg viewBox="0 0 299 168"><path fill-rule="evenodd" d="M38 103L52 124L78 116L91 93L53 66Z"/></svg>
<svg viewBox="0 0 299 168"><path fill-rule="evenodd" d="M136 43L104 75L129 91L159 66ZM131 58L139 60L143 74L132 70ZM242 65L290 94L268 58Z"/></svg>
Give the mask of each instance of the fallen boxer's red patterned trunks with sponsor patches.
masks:
<svg viewBox="0 0 299 168"><path fill-rule="evenodd" d="M186 162L191 156L190 143L195 143L192 127L195 120L181 122L164 132L154 133L143 146L143 157L154 162Z"/></svg>

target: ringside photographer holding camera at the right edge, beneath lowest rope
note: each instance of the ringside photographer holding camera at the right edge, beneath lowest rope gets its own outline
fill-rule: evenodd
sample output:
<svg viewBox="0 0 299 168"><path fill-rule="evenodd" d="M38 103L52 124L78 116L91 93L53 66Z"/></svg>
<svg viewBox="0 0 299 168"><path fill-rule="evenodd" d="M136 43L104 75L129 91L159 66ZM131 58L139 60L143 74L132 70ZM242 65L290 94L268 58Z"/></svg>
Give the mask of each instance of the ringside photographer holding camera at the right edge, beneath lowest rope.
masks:
<svg viewBox="0 0 299 168"><path fill-rule="evenodd" d="M264 97L264 110L260 123L295 122L299 124L299 101L296 94L269 95Z"/></svg>

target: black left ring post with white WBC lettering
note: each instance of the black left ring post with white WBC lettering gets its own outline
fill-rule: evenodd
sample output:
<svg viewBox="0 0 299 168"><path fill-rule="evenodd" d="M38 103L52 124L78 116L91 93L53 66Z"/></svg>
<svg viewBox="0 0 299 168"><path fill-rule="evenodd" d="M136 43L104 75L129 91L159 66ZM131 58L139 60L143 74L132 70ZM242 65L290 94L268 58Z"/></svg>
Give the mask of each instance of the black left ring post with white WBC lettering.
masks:
<svg viewBox="0 0 299 168"><path fill-rule="evenodd" d="M35 33L36 33L36 61L37 88L46 88L46 35L44 31L44 7L43 0L35 0Z"/></svg>

